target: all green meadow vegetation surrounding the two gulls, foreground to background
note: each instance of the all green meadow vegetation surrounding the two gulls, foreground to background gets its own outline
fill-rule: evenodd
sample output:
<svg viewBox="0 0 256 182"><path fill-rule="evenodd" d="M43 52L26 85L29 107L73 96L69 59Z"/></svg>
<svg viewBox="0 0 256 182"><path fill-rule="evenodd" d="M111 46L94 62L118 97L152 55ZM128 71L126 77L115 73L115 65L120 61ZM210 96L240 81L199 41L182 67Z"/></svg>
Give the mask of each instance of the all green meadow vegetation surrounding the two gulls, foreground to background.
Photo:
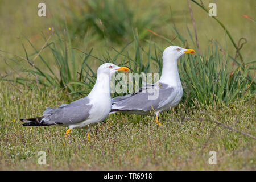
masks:
<svg viewBox="0 0 256 182"><path fill-rule="evenodd" d="M16 11L0 2L0 169L255 170L254 1L217 1L217 21L191 1L196 27L187 1L44 2L47 18L37 16L37 2ZM102 63L160 74L170 45L196 53L179 60L183 98L160 114L163 126L122 113L68 138L64 127L20 125L86 96Z"/></svg>

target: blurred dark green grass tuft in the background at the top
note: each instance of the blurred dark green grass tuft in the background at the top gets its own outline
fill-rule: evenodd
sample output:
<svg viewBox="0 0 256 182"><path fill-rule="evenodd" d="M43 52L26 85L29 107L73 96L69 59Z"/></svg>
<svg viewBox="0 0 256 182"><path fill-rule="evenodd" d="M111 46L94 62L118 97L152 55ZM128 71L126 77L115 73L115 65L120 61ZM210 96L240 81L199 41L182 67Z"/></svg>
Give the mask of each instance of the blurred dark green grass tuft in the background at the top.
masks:
<svg viewBox="0 0 256 182"><path fill-rule="evenodd" d="M81 39L90 29L92 35L99 39L106 38L110 42L122 44L133 37L135 27L141 32L141 38L144 38L148 36L144 27L159 26L156 21L158 10L145 12L138 19L128 1L80 1L66 8L68 28L72 35L80 36ZM65 24L62 18L60 22Z"/></svg>

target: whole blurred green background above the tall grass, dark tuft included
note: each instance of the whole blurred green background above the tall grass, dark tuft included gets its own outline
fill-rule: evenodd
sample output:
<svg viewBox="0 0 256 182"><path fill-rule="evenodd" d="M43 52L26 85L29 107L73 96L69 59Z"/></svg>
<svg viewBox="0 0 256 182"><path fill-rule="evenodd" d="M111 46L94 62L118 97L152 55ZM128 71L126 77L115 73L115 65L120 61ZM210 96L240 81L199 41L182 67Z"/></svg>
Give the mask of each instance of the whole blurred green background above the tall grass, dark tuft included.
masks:
<svg viewBox="0 0 256 182"><path fill-rule="evenodd" d="M38 3L40 2L46 3L46 18L38 16ZM256 26L242 15L255 19L256 1L212 0L203 1L204 6L208 8L210 2L216 3L217 18L228 28L234 41L237 43L241 37L246 38L247 43L243 46L241 53L246 63L253 61L256 55L254 51ZM228 52L234 56L236 51L220 25L199 6L192 2L191 6L201 52L204 53L210 40L213 39L223 49L226 48L227 43ZM187 1L1 0L0 19L0 49L20 56L24 56L22 44L27 48L28 53L33 53L25 37L40 49L44 43L41 32L49 35L49 27L63 30L65 22L67 22L73 47L87 52L94 48L96 55L102 55L106 51L111 54L113 52L111 46L119 50L123 48L133 40L134 28L137 28L140 39L150 39L152 36L151 39L164 49L170 46L170 43L152 35L146 28L172 40L176 37L175 32L172 31L172 22L175 22L180 34L187 39L189 47L194 48L187 32L188 27L193 34ZM177 39L174 43L177 46L184 46ZM42 53L47 56L47 51ZM4 63L5 55L3 53L1 55L0 73L3 74L11 68ZM52 59L49 56L47 61L51 63Z"/></svg>

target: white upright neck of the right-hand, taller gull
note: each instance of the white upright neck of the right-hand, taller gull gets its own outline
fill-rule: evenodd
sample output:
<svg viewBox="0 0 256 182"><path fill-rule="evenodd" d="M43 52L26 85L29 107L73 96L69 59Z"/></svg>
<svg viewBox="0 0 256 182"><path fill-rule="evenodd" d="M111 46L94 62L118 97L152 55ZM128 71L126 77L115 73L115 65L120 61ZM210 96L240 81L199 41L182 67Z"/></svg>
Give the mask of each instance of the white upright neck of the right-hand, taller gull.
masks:
<svg viewBox="0 0 256 182"><path fill-rule="evenodd" d="M159 82L169 86L181 86L176 58L163 55L163 69Z"/></svg>

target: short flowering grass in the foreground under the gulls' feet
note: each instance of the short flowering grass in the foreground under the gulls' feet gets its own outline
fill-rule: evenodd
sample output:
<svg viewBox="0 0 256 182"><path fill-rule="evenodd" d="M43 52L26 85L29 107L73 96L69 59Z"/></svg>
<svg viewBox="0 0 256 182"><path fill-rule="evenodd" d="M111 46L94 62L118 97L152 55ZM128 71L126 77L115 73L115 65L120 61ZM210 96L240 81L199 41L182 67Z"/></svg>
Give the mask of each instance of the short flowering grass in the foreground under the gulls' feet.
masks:
<svg viewBox="0 0 256 182"><path fill-rule="evenodd" d="M216 123L183 118L209 118L251 135L255 133L255 96L217 107L187 107L160 114L159 127L152 117L112 114L87 131L74 129L64 138L65 128L23 127L23 117L40 115L46 106L71 98L56 89L47 93L0 82L0 169L52 170L255 170L255 140ZM17 91L19 89L19 91ZM15 119L15 121L14 121ZM171 120L170 120L171 119ZM65 146L63 146L65 142ZM208 164L209 151L217 152L217 165ZM36 156L45 151L47 165Z"/></svg>

